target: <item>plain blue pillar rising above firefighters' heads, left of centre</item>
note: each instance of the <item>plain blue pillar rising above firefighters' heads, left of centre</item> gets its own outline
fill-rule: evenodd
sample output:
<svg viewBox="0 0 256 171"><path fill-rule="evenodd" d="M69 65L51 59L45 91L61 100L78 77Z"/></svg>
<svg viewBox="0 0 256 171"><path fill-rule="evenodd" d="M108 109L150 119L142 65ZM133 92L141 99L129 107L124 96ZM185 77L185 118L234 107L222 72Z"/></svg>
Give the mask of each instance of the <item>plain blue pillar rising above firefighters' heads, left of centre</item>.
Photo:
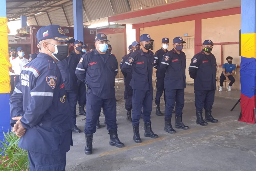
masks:
<svg viewBox="0 0 256 171"><path fill-rule="evenodd" d="M83 1L73 0L74 38L83 42Z"/></svg>

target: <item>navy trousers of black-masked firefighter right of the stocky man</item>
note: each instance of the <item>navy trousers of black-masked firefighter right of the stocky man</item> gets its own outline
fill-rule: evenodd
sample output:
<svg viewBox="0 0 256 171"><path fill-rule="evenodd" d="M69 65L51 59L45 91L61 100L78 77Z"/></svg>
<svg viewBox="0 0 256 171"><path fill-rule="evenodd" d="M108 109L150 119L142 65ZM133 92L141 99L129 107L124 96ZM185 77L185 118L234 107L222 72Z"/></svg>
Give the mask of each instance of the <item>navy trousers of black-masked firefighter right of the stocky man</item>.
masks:
<svg viewBox="0 0 256 171"><path fill-rule="evenodd" d="M132 125L140 124L141 109L143 109L142 117L144 122L150 121L152 111L153 91L137 90L132 92Z"/></svg>

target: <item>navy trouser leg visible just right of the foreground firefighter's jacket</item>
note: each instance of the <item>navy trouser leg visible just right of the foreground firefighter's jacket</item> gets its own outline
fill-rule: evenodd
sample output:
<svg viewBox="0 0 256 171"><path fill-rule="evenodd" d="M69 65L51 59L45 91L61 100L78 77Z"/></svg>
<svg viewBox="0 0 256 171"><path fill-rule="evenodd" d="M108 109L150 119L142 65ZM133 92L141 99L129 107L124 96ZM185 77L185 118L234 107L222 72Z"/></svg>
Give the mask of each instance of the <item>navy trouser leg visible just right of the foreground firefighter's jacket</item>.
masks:
<svg viewBox="0 0 256 171"><path fill-rule="evenodd" d="M66 92L67 92L68 104L71 109L71 123L72 123L72 126L74 127L76 125L76 116L77 116L76 108L77 108L78 92L77 90L66 90Z"/></svg>

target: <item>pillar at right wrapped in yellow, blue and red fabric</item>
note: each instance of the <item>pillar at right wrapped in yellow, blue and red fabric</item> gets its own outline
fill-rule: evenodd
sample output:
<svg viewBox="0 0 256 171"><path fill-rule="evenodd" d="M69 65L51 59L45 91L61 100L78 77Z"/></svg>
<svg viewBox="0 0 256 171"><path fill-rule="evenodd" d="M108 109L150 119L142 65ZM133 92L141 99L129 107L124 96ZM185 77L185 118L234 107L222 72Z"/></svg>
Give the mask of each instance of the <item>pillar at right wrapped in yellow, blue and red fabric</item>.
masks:
<svg viewBox="0 0 256 171"><path fill-rule="evenodd" d="M256 2L241 0L241 110L239 121L255 123Z"/></svg>

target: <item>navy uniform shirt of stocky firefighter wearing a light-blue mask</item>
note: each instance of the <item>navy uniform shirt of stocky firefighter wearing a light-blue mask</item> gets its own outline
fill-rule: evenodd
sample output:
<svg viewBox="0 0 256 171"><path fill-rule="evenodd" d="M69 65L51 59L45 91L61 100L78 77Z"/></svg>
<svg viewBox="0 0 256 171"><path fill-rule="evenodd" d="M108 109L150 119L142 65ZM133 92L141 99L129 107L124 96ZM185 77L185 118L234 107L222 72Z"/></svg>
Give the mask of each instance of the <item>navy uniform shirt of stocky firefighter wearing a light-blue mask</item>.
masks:
<svg viewBox="0 0 256 171"><path fill-rule="evenodd" d="M115 97L117 73L116 57L109 52L99 54L96 49L84 54L76 68L77 78L87 84L88 92L92 91L102 99Z"/></svg>

